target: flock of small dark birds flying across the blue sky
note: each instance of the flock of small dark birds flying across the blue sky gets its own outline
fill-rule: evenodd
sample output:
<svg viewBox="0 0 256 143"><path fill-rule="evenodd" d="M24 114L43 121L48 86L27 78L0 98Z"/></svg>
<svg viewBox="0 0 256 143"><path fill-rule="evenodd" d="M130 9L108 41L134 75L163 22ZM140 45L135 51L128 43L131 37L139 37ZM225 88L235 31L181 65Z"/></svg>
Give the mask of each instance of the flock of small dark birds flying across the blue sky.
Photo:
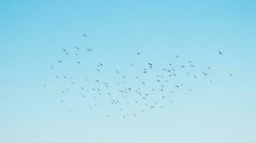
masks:
<svg viewBox="0 0 256 143"><path fill-rule="evenodd" d="M83 38L88 38L86 34L83 34ZM76 46L73 51L75 51L75 55L80 55L80 47ZM86 48L86 51L89 54L93 54L93 49ZM65 56L69 56L68 49L63 48L62 49L63 54ZM141 56L141 52L134 53L135 56ZM221 51L219 51L219 55L224 55ZM175 58L179 58L178 55L175 56ZM81 61L77 61L74 59L73 63L76 62L78 66L81 66ZM64 62L59 59L55 64L50 64L50 69L55 70L58 69L60 64L63 64ZM190 76L191 79L197 79L200 75L193 74L192 72L189 72L189 69L195 69L195 65L193 64L193 61L187 61L188 64L186 65L180 65L181 69L186 69L186 75ZM129 64L127 66L134 67L136 63ZM98 63L95 65L96 69L95 72L104 74L104 64ZM116 68L116 67L115 67ZM167 66L164 69L157 69L160 70L160 74L155 74L157 67L152 64L151 62L148 62L145 64L145 67L142 68L141 73L143 75L147 76L139 76L139 74L135 75L134 77L129 77L127 75L124 75L124 73L118 69L114 69L113 73L116 75L116 80L118 81L108 81L106 80L100 80L100 79L88 79L86 78L84 82L87 82L87 86L84 87L83 85L76 84L75 77L69 77L67 74L61 75L61 74L55 74L55 79L63 79L63 80L69 80L67 86L76 86L74 90L76 90L76 94L78 93L78 97L81 99L88 99L89 102L85 106L89 110L96 109L99 105L99 102L97 102L99 98L104 99L104 102L106 103L104 107L108 106L113 109L109 109L109 114L106 114L107 118L117 119L122 118L126 119L128 117L137 117L139 114L143 114L146 110L151 110L155 108L162 109L166 103L173 103L172 99L170 99L170 94L173 94L175 92L178 92L180 89L184 87L184 84L181 84L178 81L178 75L180 74L178 72L178 69L175 69L173 64L168 63ZM211 71L210 66L206 66L206 69ZM137 70L137 71L140 71ZM152 72L151 72L152 71ZM204 77L208 77L209 74L207 71L200 71L201 75ZM153 75L152 75L153 74ZM60 76L61 75L61 76ZM109 75L105 75L105 77L108 77ZM233 74L229 74L229 76L233 76ZM143 79L144 78L144 79ZM115 79L115 78L111 78ZM212 83L213 81L211 79L207 79L209 83ZM147 82L146 82L147 81ZM44 84L45 87L46 84ZM188 92L191 92L192 89L188 88ZM68 95L70 92L69 87L65 87L64 89L60 90L60 94ZM89 99L90 98L90 99ZM66 102L65 99L63 99L63 96L60 96L60 102L64 103ZM111 114L111 111L115 111ZM73 110L70 108L70 112ZM117 112L117 113L116 113Z"/></svg>

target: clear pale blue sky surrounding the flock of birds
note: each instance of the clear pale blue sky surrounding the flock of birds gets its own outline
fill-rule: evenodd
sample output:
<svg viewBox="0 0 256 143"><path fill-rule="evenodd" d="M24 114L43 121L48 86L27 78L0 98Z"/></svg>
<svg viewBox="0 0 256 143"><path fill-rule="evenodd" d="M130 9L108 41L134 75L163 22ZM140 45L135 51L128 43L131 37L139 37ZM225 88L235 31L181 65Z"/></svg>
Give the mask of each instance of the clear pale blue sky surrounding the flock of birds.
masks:
<svg viewBox="0 0 256 143"><path fill-rule="evenodd" d="M0 1L0 142L256 142L255 6L247 0ZM81 66L62 51L76 46ZM59 66L60 59L67 63ZM67 83L55 79L65 74L90 87L86 78L119 80L116 69L132 77L148 62L161 69L188 60L196 74L211 66L213 83L180 74L184 89L173 103L127 119L108 119L119 113L105 98L88 110L95 100L82 100L78 89L62 97ZM97 73L100 62L105 69Z"/></svg>

